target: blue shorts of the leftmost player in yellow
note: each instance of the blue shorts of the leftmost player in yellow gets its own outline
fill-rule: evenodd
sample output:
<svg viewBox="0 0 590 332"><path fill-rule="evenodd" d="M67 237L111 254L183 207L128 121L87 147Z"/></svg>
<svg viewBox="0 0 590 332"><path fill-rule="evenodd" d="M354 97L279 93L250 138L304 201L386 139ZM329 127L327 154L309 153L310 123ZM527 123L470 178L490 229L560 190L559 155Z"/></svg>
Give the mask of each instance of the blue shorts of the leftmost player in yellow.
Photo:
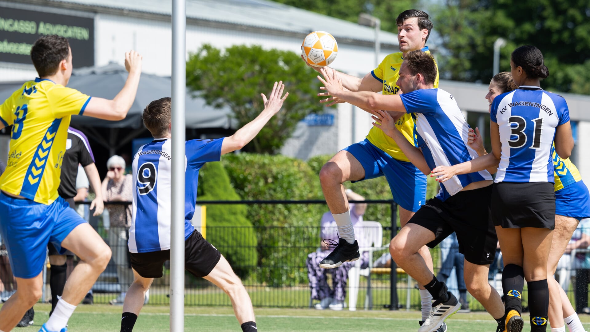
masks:
<svg viewBox="0 0 590 332"><path fill-rule="evenodd" d="M63 198L50 205L0 193L0 235L18 278L33 278L43 270L47 244L63 254L61 241L81 223L81 216Z"/></svg>

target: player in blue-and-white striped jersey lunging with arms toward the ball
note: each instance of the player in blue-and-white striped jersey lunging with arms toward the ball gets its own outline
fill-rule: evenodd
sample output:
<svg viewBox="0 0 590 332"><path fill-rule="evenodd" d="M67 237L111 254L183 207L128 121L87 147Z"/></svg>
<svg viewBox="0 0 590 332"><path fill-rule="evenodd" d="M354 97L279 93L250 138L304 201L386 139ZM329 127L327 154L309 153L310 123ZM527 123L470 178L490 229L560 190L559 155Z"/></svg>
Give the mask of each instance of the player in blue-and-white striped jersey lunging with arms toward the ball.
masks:
<svg viewBox="0 0 590 332"><path fill-rule="evenodd" d="M433 88L437 67L432 55L412 51L399 69L398 86L403 94L383 96L371 92L345 91L335 76L324 71L323 90L362 109L376 110L374 126L394 139L408 159L425 175L436 165L455 165L477 157L467 146L468 124L451 94ZM386 111L406 112L415 117L418 147L396 129ZM504 306L500 295L487 282L489 264L496 252L496 234L489 221L491 175L486 170L456 176L441 184L438 196L422 206L392 239L394 261L424 285L434 298L432 311L419 332L433 332L461 305L428 268L418 254L428 245L434 248L451 233L457 234L459 251L465 255L467 290L486 308L503 330ZM501 331L501 330L500 330Z"/></svg>

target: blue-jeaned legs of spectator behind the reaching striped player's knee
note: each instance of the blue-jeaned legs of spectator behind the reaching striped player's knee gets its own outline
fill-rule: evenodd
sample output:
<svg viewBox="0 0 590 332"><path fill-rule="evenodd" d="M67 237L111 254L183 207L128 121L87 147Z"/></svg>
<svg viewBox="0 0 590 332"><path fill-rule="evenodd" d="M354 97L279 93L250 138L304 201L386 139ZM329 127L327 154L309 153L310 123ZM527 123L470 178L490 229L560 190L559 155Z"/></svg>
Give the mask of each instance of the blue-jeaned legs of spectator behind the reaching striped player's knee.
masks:
<svg viewBox="0 0 590 332"><path fill-rule="evenodd" d="M446 246L446 248L443 248L443 246ZM454 232L446 239L442 240L441 254L442 264L437 279L441 282L447 282L448 277L451 276L451 271L455 268L457 290L459 291L459 303L461 303L460 312L468 313L470 310L467 301L467 287L465 285L465 279L463 278L465 256L459 252L459 242L457 241L457 235Z"/></svg>

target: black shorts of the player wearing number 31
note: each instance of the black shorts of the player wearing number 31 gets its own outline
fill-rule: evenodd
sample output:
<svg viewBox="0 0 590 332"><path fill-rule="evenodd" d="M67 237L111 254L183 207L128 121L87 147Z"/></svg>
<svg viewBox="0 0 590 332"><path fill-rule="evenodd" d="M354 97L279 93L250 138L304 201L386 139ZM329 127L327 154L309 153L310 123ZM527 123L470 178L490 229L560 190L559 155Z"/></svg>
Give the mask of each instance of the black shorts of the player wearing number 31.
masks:
<svg viewBox="0 0 590 332"><path fill-rule="evenodd" d="M555 228L555 191L550 182L494 183L494 225L502 228Z"/></svg>

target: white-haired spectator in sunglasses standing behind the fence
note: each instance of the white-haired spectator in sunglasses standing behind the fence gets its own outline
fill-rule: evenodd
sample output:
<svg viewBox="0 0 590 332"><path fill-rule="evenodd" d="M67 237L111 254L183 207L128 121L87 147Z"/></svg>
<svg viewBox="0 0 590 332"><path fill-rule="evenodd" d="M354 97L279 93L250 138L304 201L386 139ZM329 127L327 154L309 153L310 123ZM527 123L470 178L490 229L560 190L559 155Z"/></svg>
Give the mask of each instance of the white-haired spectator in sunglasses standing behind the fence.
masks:
<svg viewBox="0 0 590 332"><path fill-rule="evenodd" d="M125 175L125 160L120 156L112 156L107 160L107 176L103 180L103 197L106 202L129 202L133 199L133 176ZM126 290L133 282L127 254L127 239L131 226L131 209L126 204L109 204L109 246L113 251L113 261L117 267L117 278L121 293L110 304L123 305Z"/></svg>

